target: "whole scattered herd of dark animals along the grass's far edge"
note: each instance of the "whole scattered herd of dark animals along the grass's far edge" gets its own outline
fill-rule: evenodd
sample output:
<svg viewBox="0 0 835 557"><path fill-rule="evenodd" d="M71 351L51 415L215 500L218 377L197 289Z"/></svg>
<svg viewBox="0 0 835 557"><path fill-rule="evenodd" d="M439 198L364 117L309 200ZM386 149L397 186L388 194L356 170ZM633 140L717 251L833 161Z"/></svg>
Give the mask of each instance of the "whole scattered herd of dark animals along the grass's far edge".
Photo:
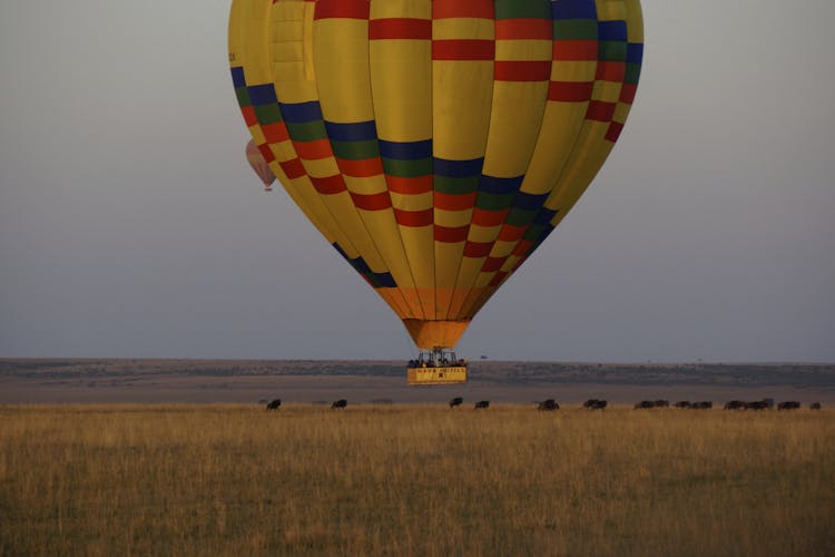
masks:
<svg viewBox="0 0 835 557"><path fill-rule="evenodd" d="M274 399L269 402L262 400L262 403L266 403L267 410L278 410L278 408L282 405L282 399ZM450 400L450 408L461 408L464 403L463 397L455 397L454 399ZM599 400L599 399L589 399L586 402L582 403L582 408L587 410L603 410L608 405L608 402L606 400ZM635 404L636 410L642 410L642 409L650 409L650 408L680 408L680 409L691 409L691 410L710 410L714 408L713 401L709 400L703 400L698 402L690 402L689 400L679 400L678 402L675 402L674 404L670 404L669 400L642 400L640 402L637 402ZM338 399L334 400L331 404L331 410L342 410L347 407L347 400L345 399ZM474 410L487 410L490 408L490 401L489 400L480 400L474 405ZM770 410L775 408L774 399L763 399L763 400L756 400L752 402L746 402L744 400L730 400L725 403L725 410ZM784 402L780 402L776 404L777 410L798 410L800 408L800 403L794 400L787 400ZM543 401L537 402L537 409L541 411L551 411L551 410L559 410L560 404L554 399L546 399ZM819 402L813 402L809 404L811 410L821 410L821 403Z"/></svg>

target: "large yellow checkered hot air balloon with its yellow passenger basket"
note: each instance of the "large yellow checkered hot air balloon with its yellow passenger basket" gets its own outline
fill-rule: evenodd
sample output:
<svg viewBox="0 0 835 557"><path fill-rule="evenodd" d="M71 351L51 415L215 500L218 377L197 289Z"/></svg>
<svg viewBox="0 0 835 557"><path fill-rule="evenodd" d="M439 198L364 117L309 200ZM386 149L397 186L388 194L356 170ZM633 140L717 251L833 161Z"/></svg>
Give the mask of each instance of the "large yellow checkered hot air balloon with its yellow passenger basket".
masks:
<svg viewBox="0 0 835 557"><path fill-rule="evenodd" d="M253 140L426 351L410 383L465 381L446 351L611 152L642 27L639 0L233 1Z"/></svg>

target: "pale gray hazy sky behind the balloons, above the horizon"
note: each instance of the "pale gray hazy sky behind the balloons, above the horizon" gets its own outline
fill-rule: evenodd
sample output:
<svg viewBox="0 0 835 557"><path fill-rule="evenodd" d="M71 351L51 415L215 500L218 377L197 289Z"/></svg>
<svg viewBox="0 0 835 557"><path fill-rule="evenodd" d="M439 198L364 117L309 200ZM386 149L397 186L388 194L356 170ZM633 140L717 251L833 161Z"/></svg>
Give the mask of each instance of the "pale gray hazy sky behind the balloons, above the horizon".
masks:
<svg viewBox="0 0 835 557"><path fill-rule="evenodd" d="M247 167L228 3L0 2L0 356L414 353ZM835 2L644 14L618 146L459 353L835 361Z"/></svg>

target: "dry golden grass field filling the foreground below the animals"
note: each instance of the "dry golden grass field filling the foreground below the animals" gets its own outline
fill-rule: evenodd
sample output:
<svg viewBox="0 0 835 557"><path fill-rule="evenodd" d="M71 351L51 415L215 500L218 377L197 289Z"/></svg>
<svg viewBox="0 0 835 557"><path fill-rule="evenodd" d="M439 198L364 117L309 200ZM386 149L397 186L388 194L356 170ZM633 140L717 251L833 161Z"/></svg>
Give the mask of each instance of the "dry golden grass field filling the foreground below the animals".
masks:
<svg viewBox="0 0 835 557"><path fill-rule="evenodd" d="M835 413L0 407L0 555L831 555Z"/></svg>

